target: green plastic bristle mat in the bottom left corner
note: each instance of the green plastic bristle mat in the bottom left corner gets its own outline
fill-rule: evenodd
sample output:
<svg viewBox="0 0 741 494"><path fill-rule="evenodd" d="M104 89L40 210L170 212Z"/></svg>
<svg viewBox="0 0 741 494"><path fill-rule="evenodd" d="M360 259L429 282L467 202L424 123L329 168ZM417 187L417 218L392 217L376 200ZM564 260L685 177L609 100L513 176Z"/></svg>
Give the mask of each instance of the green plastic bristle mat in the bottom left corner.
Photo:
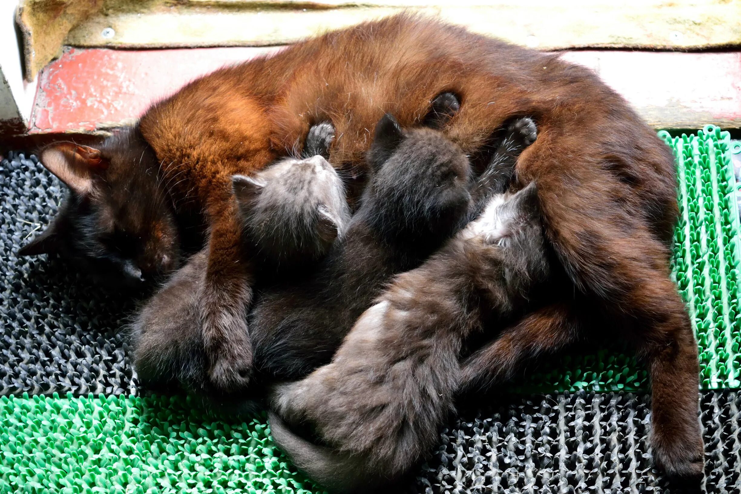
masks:
<svg viewBox="0 0 741 494"><path fill-rule="evenodd" d="M318 492L266 423L214 418L180 396L3 396L0 493Z"/></svg>

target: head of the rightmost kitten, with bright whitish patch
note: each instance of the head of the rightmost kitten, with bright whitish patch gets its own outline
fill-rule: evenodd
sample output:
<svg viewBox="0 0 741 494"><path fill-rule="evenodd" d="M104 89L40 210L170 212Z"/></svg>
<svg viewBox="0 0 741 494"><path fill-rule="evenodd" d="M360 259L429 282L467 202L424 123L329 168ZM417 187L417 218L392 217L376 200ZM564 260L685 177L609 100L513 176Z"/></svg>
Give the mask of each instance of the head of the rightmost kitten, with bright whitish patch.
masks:
<svg viewBox="0 0 741 494"><path fill-rule="evenodd" d="M535 182L516 193L494 196L481 216L460 235L481 236L485 244L496 247L512 283L545 281L550 275L548 242Z"/></svg>

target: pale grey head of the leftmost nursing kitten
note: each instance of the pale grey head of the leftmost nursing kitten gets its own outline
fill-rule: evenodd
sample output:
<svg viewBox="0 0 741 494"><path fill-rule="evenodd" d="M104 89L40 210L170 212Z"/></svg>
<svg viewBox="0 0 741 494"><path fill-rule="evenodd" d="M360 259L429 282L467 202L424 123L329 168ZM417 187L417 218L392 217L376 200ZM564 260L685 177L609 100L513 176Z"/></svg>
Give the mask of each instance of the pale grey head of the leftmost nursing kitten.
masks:
<svg viewBox="0 0 741 494"><path fill-rule="evenodd" d="M272 261L317 259L350 222L342 178L322 156L285 158L232 183L246 240Z"/></svg>

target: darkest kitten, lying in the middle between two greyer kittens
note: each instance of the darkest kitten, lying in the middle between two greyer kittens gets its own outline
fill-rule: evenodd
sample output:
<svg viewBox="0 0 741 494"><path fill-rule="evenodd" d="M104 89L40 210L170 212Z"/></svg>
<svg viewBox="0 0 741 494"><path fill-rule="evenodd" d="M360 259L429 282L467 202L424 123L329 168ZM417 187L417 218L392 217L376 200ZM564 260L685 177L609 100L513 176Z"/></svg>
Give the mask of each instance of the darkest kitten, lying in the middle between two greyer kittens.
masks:
<svg viewBox="0 0 741 494"><path fill-rule="evenodd" d="M457 108L457 102L451 105ZM373 174L350 221L308 281L256 299L250 313L255 366L270 378L299 378L327 363L356 318L396 273L419 266L507 187L520 151L534 140L518 119L478 179L462 151L439 130L402 130L391 116L376 126Z"/></svg>

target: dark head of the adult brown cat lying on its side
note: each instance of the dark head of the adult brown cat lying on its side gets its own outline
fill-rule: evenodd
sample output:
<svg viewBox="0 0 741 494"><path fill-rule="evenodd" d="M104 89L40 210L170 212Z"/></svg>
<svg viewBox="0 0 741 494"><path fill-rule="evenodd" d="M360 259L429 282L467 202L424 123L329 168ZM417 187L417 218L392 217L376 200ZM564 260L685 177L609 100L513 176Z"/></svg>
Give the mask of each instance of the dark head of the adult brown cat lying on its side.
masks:
<svg viewBox="0 0 741 494"><path fill-rule="evenodd" d="M97 148L51 144L39 158L69 193L21 256L59 253L114 286L136 286L176 267L173 210L159 185L153 150L136 129L122 130Z"/></svg>

